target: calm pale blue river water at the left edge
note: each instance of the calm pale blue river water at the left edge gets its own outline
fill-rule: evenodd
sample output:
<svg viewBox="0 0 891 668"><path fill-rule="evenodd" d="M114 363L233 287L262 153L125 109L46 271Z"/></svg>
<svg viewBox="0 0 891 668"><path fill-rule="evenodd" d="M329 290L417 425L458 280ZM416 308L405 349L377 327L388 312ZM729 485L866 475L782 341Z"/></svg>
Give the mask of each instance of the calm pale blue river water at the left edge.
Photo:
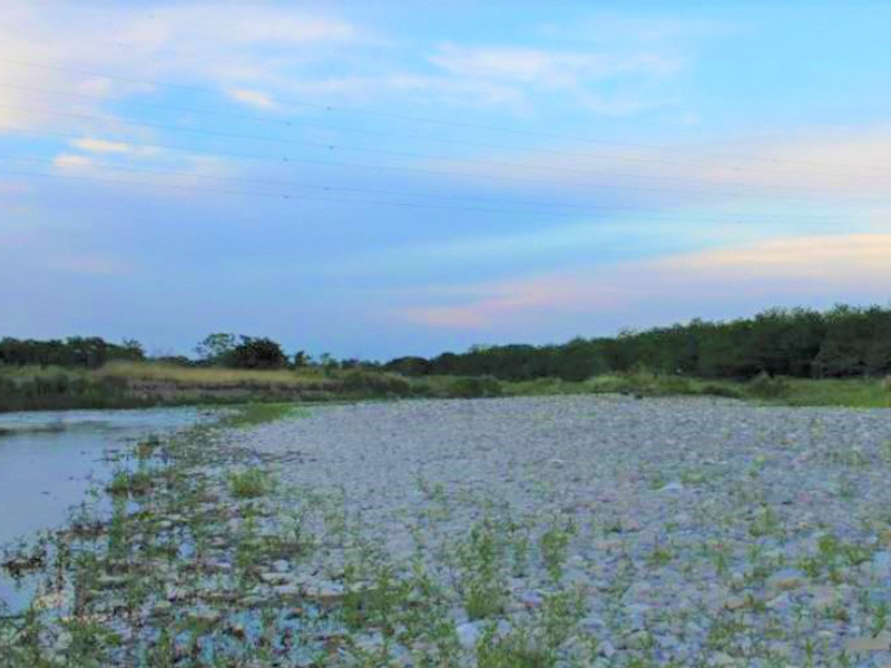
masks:
<svg viewBox="0 0 891 668"><path fill-rule="evenodd" d="M194 407L0 413L0 546L61 527L134 440L196 423ZM19 590L0 572L0 601Z"/></svg>

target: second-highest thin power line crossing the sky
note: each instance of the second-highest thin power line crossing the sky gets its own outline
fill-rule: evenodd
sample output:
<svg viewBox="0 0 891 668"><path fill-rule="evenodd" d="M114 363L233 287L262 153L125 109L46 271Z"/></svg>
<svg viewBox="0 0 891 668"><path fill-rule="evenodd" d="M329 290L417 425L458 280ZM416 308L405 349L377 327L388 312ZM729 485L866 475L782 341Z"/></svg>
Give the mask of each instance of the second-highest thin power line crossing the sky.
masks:
<svg viewBox="0 0 891 668"><path fill-rule="evenodd" d="M2 60L0 60L0 62L2 62ZM218 118L231 118L231 119L237 119L237 120L249 120L252 122L270 124L270 125L275 125L275 126L280 126L280 127L284 127L284 128L288 128L288 129L301 129L302 128L302 129L313 129L313 130L321 130L321 131L353 132L353 134L361 134L361 135L371 135L371 136L375 136L375 137L390 137L390 138L396 138L396 139L411 139L411 140L420 139L420 140L424 140L424 141L431 141L432 140L432 141L438 141L438 143L442 143L442 144L452 144L452 145L457 145L457 146L471 146L471 147L474 147L474 148L488 147L488 148L499 148L499 149L508 149L508 150L522 150L525 153L536 153L536 154L540 153L540 154L557 155L557 156L568 156L568 157L578 158L578 154L576 154L576 153L571 153L571 151L568 151L568 150L551 149L551 148L517 147L517 146L509 146L509 145L505 145L505 144L493 144L493 143L490 143L490 141L479 141L479 140L469 140L469 139L454 139L452 137L442 137L442 136L425 137L425 136L421 136L421 135L405 135L405 134L402 134L402 132L392 132L392 131L385 131L385 130L371 130L371 129L368 129L368 128L350 128L350 127L343 127L343 126L333 126L333 127L317 126L317 125L306 124L302 119L301 120L286 120L286 119L278 119L278 118L268 118L268 117L265 117L265 116L258 116L258 115L254 115L254 114L236 114L236 112L232 112L232 111L219 111L219 110L214 110L214 109L195 109L195 108L190 108L190 107L178 107L178 106L172 106L172 105L160 105L160 104L156 104L156 102L139 102L139 101L131 101L131 100L109 100L107 97L102 97L102 96L98 96L98 95L88 95L88 94L82 94L82 92L72 92L72 91L63 91L63 90L52 90L52 89L47 89L47 88L37 88L37 87L33 87L33 86L21 86L21 85L17 85L17 84L3 84L3 82L0 82L0 88L7 88L7 89L11 89L11 90L23 90L23 91L28 91L28 92L37 92L37 94L40 94L40 95L55 95L55 96L60 96L60 97L74 98L74 99L94 100L94 101L97 101L97 102L114 101L114 104L116 104L116 105L124 105L124 106L127 106L127 107L136 107L136 108L143 108L143 109L157 109L157 110L164 110L164 111L177 111L177 112L180 112L180 114L196 114L196 115L204 115L204 116L214 116L214 117L218 117ZM447 159L452 159L452 158L447 158ZM678 166L678 167L687 166L687 163L682 163L682 161L678 161L678 160L666 160L666 159L663 159L663 158L653 158L653 157L635 158L635 157L630 157L630 156L598 156L597 159L600 160L600 161L619 163L619 164L621 164L621 163L630 163L630 164L635 164L635 165L658 164L658 165L668 165L668 166ZM498 163L499 164L520 165L520 166L525 166L525 167L535 168L535 166L532 166L532 165L522 165L522 164L517 164L517 163L503 163L503 161L498 161ZM846 166L842 165L841 167L844 168ZM569 169L579 170L577 168L571 168L571 167ZM727 171L747 173L747 174L760 174L760 175L764 174L763 168L757 168L756 169L756 168L745 168L745 167L740 167L740 166L719 166L719 167L717 167L717 169L727 170ZM579 171L582 171L582 170L579 170ZM588 170L584 170L584 171L587 173ZM597 173L597 171L595 171L595 173L596 174L603 174L603 173ZM888 173L888 171L875 171L875 173L871 173L871 174L872 174L873 178L881 178L881 177L888 176L890 173ZM814 175L840 176L838 173L831 173L831 171L814 173L812 170L811 171L789 171L789 170L783 170L783 171L780 173L780 175L783 175L783 176L814 176ZM624 176L628 176L628 175L624 175ZM636 176L637 178L654 178L654 177L652 177L649 175L634 175L634 176Z"/></svg>

